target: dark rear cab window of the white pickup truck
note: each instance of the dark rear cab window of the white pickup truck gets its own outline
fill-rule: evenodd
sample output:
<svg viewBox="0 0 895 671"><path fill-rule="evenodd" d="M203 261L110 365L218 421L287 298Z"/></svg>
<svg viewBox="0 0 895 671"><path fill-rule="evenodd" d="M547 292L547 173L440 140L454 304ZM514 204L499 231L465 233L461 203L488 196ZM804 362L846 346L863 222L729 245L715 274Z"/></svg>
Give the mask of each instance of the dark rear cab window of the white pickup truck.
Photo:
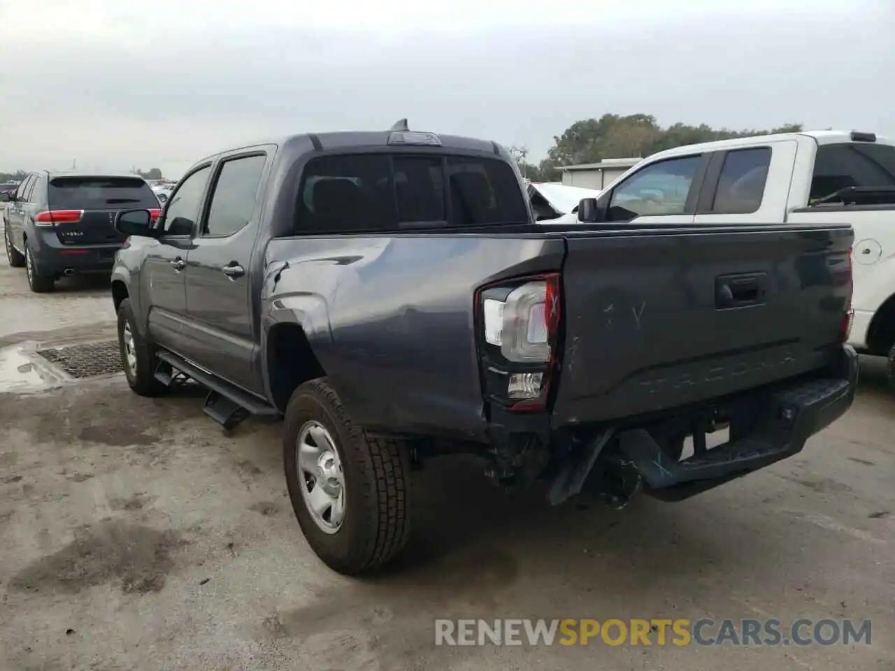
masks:
<svg viewBox="0 0 895 671"><path fill-rule="evenodd" d="M818 147L810 200L849 186L895 188L895 147L871 142Z"/></svg>

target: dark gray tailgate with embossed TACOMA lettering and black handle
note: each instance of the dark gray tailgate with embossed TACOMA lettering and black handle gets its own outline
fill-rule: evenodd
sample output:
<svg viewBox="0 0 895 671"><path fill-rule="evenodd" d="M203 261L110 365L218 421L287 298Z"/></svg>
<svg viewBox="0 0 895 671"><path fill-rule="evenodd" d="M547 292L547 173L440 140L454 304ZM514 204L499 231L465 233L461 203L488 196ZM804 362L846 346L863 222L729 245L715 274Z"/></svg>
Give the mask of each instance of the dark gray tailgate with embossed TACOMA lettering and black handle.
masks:
<svg viewBox="0 0 895 671"><path fill-rule="evenodd" d="M823 366L851 293L848 225L567 233L554 423L620 419Z"/></svg>

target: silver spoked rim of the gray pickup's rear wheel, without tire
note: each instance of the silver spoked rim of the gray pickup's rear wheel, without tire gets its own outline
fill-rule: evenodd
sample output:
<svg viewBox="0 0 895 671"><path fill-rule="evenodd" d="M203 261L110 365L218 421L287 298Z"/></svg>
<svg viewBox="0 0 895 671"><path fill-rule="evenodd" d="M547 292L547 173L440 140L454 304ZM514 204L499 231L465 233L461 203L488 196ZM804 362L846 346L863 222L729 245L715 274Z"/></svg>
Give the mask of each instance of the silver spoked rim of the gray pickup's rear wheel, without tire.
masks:
<svg viewBox="0 0 895 671"><path fill-rule="evenodd" d="M345 475L336 441L320 422L304 422L295 444L295 463L311 519L321 531L336 533L345 520Z"/></svg>

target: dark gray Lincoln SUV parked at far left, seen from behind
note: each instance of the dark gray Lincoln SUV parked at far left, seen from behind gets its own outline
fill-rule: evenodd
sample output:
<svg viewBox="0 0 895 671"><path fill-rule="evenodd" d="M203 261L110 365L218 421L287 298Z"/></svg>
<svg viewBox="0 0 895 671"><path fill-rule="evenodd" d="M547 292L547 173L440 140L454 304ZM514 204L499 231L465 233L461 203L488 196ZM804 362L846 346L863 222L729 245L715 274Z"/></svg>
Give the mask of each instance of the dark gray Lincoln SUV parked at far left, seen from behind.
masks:
<svg viewBox="0 0 895 671"><path fill-rule="evenodd" d="M52 291L60 276L109 272L125 237L115 230L115 215L135 207L159 212L138 175L30 173L6 208L6 259L26 268L38 293Z"/></svg>

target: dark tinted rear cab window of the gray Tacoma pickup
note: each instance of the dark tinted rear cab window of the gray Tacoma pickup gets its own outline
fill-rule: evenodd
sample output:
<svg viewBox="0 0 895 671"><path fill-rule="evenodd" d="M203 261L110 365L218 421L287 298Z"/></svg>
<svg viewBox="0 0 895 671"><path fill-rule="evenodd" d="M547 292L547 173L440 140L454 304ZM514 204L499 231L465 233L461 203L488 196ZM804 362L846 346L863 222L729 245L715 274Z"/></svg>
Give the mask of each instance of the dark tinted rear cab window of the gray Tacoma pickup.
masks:
<svg viewBox="0 0 895 671"><path fill-rule="evenodd" d="M483 157L319 157L304 170L295 234L524 224L513 168Z"/></svg>

